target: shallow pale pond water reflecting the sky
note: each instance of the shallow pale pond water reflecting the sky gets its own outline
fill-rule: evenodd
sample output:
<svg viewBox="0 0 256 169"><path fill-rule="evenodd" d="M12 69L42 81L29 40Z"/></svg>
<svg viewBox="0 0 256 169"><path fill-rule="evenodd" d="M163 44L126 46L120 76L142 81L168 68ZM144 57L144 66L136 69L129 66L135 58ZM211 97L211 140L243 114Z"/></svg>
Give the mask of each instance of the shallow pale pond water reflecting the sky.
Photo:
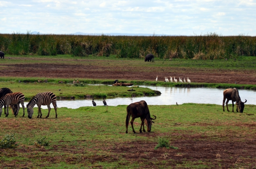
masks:
<svg viewBox="0 0 256 169"><path fill-rule="evenodd" d="M204 104L218 104L222 105L223 91L224 89L217 88L177 88L177 87L163 87L163 86L143 86L148 87L152 90L160 91L162 94L160 96L144 96L144 97L132 97L132 98L113 98L106 99L109 106L117 105L129 105L131 103L145 100L148 105L173 105L182 103L204 103ZM133 88L136 90L136 88ZM252 90L239 90L239 95L242 101L247 99L246 104L256 104L256 92ZM103 106L102 99L94 100L97 106ZM25 105L28 103L26 102ZM229 101L229 104L232 104ZM83 100L57 100L58 107L68 107L68 108L79 108L84 106L92 106L92 99ZM53 108L52 104L51 107ZM47 106L42 106L46 109Z"/></svg>

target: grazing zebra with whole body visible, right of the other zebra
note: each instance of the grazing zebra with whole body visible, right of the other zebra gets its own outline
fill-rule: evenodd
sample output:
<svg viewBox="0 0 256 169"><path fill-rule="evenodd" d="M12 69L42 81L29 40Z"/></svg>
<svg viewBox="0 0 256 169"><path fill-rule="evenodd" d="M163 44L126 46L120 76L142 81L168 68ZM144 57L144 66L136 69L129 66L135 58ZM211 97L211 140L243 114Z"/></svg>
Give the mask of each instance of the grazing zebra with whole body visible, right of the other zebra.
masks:
<svg viewBox="0 0 256 169"><path fill-rule="evenodd" d="M45 106L47 105L48 107L48 115L45 118L49 117L50 111L51 111L51 107L50 104L52 103L54 109L55 109L55 113L56 116L55 118L57 118L57 105L56 105L56 96L53 92L44 92L44 93L37 93L36 96L33 96L32 99L28 102L27 104L27 108L28 108L28 118L31 119L32 115L34 113L33 107L35 105L37 105L38 107L38 116L39 117L39 113L40 113L40 118L42 118L42 112L41 112L41 106Z"/></svg>

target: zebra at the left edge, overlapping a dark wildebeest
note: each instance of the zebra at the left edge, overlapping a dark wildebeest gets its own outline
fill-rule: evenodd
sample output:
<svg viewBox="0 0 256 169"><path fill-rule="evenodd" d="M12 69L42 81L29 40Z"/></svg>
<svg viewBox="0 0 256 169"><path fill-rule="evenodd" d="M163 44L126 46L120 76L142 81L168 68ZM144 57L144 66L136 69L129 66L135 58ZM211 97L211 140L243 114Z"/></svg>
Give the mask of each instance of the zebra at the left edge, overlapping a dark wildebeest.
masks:
<svg viewBox="0 0 256 169"><path fill-rule="evenodd" d="M15 105L17 104L17 112L15 115L15 117L18 115L19 110L20 110L20 104L23 108L23 116L25 115L25 107L24 107L24 100L25 100L25 96L23 93L21 92L16 92L16 93L8 93L6 94L1 100L0 100L0 117L2 115L2 108L4 106L4 104L6 104L6 115L5 117L7 117L9 115L9 105Z"/></svg>

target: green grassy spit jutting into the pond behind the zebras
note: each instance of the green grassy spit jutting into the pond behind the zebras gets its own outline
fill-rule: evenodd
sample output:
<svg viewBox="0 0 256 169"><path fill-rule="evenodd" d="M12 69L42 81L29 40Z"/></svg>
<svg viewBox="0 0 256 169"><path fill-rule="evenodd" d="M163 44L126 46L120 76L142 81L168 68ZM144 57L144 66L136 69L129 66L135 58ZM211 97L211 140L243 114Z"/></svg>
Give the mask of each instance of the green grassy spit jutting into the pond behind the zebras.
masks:
<svg viewBox="0 0 256 169"><path fill-rule="evenodd" d="M26 81L26 80L25 80ZM35 82L37 80L29 80ZM51 80L50 80L51 81ZM73 81L72 81L73 82ZM144 87L133 87L135 91L128 92L131 89L124 86L107 86L107 85L84 85L84 84L59 84L59 83L19 83L0 82L1 88L7 87L12 92L22 92L25 99L30 99L39 92L53 92L58 99L84 99L84 98L108 98L108 97L136 97L136 96L155 96L160 95L158 91ZM60 91L59 91L60 89Z"/></svg>

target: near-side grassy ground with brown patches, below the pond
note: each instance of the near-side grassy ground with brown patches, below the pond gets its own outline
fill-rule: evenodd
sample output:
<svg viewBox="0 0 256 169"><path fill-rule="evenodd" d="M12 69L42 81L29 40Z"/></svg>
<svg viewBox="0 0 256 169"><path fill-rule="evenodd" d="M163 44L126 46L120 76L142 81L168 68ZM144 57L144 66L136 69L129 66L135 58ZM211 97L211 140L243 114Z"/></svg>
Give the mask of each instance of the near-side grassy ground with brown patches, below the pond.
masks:
<svg viewBox="0 0 256 169"><path fill-rule="evenodd" d="M157 117L151 132L136 134L130 124L125 134L126 107L58 108L58 119L53 109L50 118L37 119L37 108L32 119L2 116L0 139L13 133L17 147L0 149L0 168L256 166L255 105L245 105L244 113L223 112L222 106L212 104L149 106L151 116ZM47 112L42 110L43 117ZM136 119L136 132L139 127ZM50 146L36 147L34 141L44 136ZM154 150L158 137L179 149Z"/></svg>

